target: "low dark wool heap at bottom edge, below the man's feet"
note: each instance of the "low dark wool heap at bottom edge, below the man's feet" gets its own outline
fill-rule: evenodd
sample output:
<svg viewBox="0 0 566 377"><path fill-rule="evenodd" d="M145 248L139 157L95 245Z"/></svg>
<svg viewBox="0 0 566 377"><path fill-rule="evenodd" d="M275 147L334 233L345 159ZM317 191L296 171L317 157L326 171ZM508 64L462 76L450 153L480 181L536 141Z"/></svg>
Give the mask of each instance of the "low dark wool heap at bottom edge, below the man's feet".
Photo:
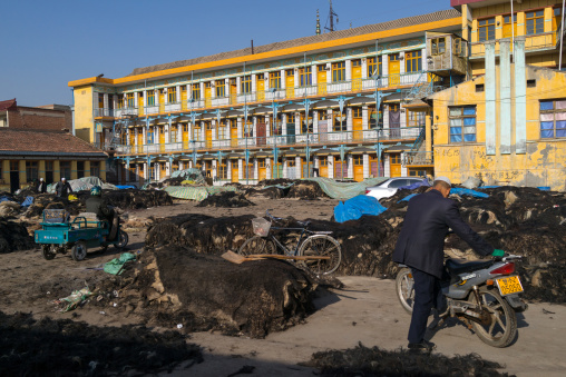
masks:
<svg viewBox="0 0 566 377"><path fill-rule="evenodd" d="M325 377L342 376L509 376L495 361L475 354L448 357L440 354L413 354L359 345L353 349L316 353L305 366L320 369Z"/></svg>

